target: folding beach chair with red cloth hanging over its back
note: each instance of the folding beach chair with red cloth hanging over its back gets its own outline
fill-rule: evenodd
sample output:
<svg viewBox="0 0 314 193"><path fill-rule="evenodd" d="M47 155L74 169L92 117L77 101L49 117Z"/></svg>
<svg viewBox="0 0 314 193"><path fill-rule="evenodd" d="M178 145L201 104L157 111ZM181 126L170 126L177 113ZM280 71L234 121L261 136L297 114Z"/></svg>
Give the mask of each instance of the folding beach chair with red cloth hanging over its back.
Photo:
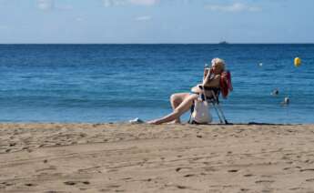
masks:
<svg viewBox="0 0 314 193"><path fill-rule="evenodd" d="M220 80L220 87L208 87L208 86L199 86L201 90L203 90L203 94L200 94L201 100L206 101L207 104L210 104L216 111L220 124L229 124L222 108L219 104L219 96L222 93L224 98L227 98L229 91L233 90L231 84L231 74L229 71L225 71L222 73ZM210 94L210 95L205 95ZM209 106L208 106L209 107ZM208 109L209 110L209 109ZM195 120L193 120L192 114L195 111L195 105L191 107L191 115L189 117L188 123L190 124L198 124Z"/></svg>

